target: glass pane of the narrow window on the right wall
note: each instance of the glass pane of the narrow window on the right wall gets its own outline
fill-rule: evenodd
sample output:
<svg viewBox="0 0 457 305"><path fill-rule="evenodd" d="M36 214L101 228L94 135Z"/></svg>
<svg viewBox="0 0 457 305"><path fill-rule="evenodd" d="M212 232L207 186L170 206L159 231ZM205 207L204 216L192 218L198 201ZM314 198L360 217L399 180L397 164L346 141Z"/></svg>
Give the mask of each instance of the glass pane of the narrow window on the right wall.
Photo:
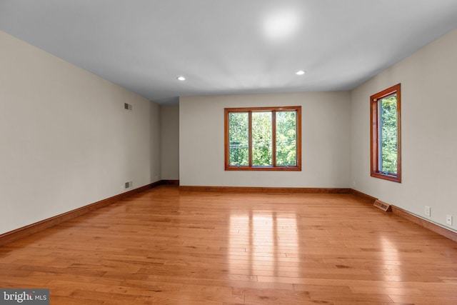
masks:
<svg viewBox="0 0 457 305"><path fill-rule="evenodd" d="M393 94L378 101L379 106L379 171L397 174L397 96Z"/></svg>

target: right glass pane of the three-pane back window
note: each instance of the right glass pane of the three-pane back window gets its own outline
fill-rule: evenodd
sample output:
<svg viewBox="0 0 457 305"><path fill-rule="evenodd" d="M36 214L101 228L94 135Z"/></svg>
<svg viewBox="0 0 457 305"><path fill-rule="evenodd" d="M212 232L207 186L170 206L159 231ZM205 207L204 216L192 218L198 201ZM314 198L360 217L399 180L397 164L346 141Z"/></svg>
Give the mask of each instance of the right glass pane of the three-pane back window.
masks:
<svg viewBox="0 0 457 305"><path fill-rule="evenodd" d="M296 166L296 111L276 112L276 165Z"/></svg>

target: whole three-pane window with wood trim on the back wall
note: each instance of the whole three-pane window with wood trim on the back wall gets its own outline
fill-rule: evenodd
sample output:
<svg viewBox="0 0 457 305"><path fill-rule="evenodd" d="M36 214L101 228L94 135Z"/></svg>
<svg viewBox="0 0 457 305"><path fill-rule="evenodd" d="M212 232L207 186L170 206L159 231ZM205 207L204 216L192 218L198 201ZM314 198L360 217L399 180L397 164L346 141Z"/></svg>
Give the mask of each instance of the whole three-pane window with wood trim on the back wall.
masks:
<svg viewBox="0 0 457 305"><path fill-rule="evenodd" d="M301 171L301 106L226 108L225 169Z"/></svg>

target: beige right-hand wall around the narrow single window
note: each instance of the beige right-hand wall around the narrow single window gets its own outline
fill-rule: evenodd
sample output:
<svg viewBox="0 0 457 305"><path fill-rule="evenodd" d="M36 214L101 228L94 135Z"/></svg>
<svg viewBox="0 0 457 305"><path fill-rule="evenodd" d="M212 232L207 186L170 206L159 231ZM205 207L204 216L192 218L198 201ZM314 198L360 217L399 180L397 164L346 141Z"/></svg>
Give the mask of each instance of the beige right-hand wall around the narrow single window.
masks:
<svg viewBox="0 0 457 305"><path fill-rule="evenodd" d="M382 201L457 228L457 30L351 92L351 184ZM370 176L369 97L401 83L402 183ZM431 206L431 217L424 215Z"/></svg>

